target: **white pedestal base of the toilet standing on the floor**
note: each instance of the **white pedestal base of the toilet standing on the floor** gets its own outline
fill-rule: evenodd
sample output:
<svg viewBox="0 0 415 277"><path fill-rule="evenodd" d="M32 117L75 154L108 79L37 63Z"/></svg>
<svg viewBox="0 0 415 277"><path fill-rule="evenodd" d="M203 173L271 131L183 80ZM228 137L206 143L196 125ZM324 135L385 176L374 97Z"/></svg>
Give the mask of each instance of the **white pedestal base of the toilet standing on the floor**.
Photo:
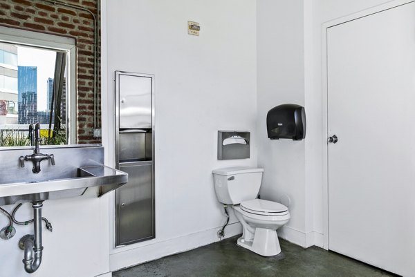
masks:
<svg viewBox="0 0 415 277"><path fill-rule="evenodd" d="M257 228L252 241L244 240L241 236L238 238L237 245L266 257L281 253L277 231L272 229Z"/></svg>

